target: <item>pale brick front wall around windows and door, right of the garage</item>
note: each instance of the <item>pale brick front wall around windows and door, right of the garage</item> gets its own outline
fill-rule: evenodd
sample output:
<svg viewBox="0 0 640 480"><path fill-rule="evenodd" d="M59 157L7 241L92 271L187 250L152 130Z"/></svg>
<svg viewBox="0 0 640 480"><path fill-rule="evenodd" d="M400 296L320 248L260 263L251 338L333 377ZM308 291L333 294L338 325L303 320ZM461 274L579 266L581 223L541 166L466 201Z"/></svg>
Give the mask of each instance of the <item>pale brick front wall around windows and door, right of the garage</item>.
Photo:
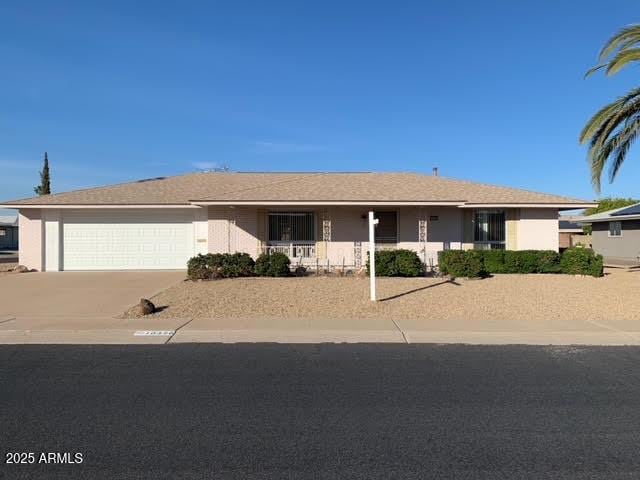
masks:
<svg viewBox="0 0 640 480"><path fill-rule="evenodd" d="M366 219L369 208L340 206L313 210L317 218L318 263L364 265L369 249ZM246 252L257 257L260 246L266 244L269 211L254 207L209 207L209 251ZM441 250L473 248L472 210L433 206L398 208L395 211L398 213L397 248L416 251L427 265L437 264ZM557 214L555 209L507 210L507 248L557 251ZM422 239L421 225L426 225L426 238ZM315 263L316 259L309 261Z"/></svg>

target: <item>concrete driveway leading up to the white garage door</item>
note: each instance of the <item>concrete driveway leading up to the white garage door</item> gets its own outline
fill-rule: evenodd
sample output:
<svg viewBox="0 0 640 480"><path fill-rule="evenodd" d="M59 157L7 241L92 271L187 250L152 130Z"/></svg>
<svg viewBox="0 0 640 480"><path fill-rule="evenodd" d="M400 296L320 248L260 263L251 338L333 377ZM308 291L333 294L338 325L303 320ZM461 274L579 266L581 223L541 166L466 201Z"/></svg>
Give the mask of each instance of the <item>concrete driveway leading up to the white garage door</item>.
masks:
<svg viewBox="0 0 640 480"><path fill-rule="evenodd" d="M51 272L0 276L0 322L11 318L113 318L180 282L180 271Z"/></svg>

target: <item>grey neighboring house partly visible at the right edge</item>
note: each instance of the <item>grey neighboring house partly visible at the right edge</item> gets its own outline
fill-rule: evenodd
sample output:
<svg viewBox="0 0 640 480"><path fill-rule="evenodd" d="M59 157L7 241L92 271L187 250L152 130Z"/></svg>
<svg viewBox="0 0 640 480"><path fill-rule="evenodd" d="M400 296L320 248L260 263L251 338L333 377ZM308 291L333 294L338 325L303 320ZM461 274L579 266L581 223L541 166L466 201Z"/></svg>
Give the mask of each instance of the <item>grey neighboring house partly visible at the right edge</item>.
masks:
<svg viewBox="0 0 640 480"><path fill-rule="evenodd" d="M580 222L591 225L593 249L604 257L605 263L640 263L640 203L596 213Z"/></svg>

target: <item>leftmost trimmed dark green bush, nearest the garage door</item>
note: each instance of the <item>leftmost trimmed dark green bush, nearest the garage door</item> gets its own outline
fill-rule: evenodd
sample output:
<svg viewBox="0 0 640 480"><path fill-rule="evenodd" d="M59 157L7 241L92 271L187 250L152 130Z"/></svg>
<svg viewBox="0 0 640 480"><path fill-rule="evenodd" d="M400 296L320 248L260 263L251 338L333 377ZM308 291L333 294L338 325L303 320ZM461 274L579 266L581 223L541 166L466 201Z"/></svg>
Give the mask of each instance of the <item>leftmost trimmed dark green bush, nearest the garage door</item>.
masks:
<svg viewBox="0 0 640 480"><path fill-rule="evenodd" d="M191 280L250 277L255 262L248 253L207 253L196 255L187 262L187 276Z"/></svg>

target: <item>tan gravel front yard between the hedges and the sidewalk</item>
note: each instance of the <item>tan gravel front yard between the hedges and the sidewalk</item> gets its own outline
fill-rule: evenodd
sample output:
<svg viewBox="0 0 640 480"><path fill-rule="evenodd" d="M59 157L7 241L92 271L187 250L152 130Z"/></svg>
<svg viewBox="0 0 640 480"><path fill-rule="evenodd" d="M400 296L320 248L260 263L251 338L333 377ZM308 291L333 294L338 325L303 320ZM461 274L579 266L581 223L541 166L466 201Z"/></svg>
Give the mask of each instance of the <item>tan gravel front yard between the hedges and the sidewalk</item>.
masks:
<svg viewBox="0 0 640 480"><path fill-rule="evenodd" d="M640 319L640 271L604 278L496 275L484 280L241 278L182 282L152 301L174 318Z"/></svg>

